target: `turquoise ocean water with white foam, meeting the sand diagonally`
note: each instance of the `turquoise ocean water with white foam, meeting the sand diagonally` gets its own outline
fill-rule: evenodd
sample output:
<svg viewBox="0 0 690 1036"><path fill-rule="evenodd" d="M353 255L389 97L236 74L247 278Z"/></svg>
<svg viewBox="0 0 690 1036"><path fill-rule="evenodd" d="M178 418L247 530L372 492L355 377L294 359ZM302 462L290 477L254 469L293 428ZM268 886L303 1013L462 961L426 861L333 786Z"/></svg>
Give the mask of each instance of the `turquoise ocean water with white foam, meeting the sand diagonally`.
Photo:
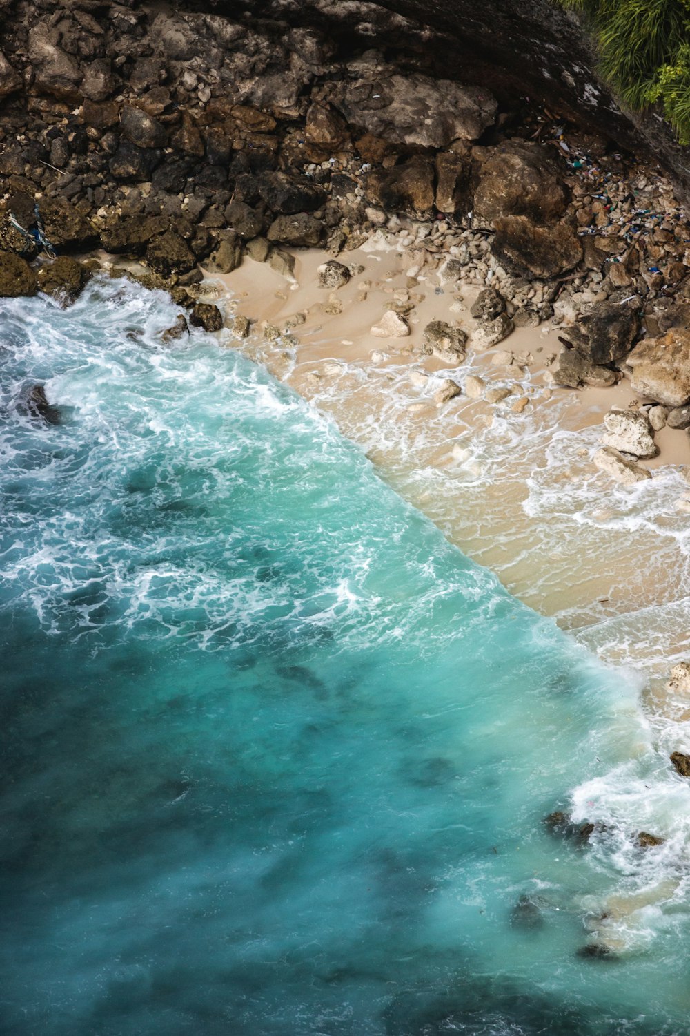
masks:
<svg viewBox="0 0 690 1036"><path fill-rule="evenodd" d="M672 854L542 824L654 786L630 674L176 313L0 303L2 1032L690 1032Z"/></svg>

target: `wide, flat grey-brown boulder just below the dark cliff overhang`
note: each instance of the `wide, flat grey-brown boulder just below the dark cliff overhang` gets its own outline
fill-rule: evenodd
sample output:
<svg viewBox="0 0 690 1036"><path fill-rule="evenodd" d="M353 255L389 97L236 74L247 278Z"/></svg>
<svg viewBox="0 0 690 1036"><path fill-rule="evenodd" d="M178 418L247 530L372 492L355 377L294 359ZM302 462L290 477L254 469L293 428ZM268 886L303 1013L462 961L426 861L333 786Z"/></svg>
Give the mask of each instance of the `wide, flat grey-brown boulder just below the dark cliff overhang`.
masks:
<svg viewBox="0 0 690 1036"><path fill-rule="evenodd" d="M447 147L491 125L497 103L482 87L411 74L338 84L333 104L353 125L394 144Z"/></svg>

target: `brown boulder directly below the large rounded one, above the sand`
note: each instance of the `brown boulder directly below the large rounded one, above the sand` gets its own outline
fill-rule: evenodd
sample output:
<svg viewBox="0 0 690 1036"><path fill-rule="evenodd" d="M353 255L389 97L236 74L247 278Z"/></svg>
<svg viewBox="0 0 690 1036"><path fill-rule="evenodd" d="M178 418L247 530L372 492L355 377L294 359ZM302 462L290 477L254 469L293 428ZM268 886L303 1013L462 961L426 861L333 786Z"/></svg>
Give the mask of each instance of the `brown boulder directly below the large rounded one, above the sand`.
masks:
<svg viewBox="0 0 690 1036"><path fill-rule="evenodd" d="M566 221L541 227L527 215L497 218L491 253L513 277L546 279L567 274L582 258L582 246Z"/></svg>

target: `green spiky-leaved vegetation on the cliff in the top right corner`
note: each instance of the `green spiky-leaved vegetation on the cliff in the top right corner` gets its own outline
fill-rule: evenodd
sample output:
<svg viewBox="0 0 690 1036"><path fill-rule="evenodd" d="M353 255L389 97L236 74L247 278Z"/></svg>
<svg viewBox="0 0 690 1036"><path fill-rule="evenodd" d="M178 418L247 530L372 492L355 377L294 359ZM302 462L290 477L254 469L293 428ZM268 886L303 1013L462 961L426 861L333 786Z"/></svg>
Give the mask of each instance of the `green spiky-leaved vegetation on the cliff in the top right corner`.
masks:
<svg viewBox="0 0 690 1036"><path fill-rule="evenodd" d="M690 144L690 0L557 0L580 10L599 46L599 70L624 105L659 104Z"/></svg>

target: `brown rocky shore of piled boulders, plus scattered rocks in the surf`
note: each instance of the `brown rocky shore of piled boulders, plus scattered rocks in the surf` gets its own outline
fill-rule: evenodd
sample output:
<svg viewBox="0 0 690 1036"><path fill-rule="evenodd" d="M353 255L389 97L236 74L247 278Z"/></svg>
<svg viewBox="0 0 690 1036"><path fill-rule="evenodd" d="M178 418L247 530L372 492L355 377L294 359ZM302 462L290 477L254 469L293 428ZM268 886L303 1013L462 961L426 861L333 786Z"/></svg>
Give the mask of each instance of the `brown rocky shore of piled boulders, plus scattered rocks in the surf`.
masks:
<svg viewBox="0 0 690 1036"><path fill-rule="evenodd" d="M102 269L171 292L186 316L164 342L229 326L286 356L308 307L280 321L241 294L218 306L208 279L263 263L287 299L301 250L319 250L313 312L339 317L347 286L370 294L359 337L433 363L409 379L432 385L434 408L462 397L521 414L529 354L510 385L458 372L489 351L508 369L515 336L543 332L559 342L544 393L631 390L591 467L623 487L650 479L662 431L690 464L690 234L654 164L528 98L433 78L383 40L344 59L316 28L133 0L0 0L0 296L69 305ZM401 260L378 294L362 250ZM60 420L41 385L24 406ZM688 671L668 694L687 697ZM690 755L669 761L690 776Z"/></svg>

